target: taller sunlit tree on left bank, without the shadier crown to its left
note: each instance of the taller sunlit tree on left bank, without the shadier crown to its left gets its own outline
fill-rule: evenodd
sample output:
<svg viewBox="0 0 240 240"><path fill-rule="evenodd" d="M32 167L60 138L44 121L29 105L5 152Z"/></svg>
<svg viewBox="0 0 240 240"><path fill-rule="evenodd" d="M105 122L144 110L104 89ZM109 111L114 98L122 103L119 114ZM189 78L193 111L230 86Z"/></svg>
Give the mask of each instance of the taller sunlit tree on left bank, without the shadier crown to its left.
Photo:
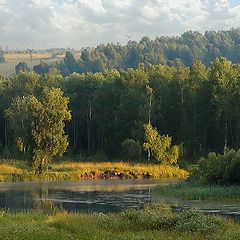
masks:
<svg viewBox="0 0 240 240"><path fill-rule="evenodd" d="M68 139L64 133L64 122L71 119L68 99L60 89L45 88L41 106L34 109L33 117L33 167L41 173L46 170L53 156L62 156L67 149Z"/></svg>

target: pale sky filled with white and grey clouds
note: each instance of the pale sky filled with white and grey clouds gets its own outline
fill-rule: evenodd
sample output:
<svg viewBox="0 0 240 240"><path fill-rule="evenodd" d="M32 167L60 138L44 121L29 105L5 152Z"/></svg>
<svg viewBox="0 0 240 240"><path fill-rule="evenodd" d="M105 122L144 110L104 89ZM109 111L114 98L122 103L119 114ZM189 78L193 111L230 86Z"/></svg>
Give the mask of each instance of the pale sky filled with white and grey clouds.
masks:
<svg viewBox="0 0 240 240"><path fill-rule="evenodd" d="M240 27L240 0L0 0L11 49L126 44L143 36Z"/></svg>

